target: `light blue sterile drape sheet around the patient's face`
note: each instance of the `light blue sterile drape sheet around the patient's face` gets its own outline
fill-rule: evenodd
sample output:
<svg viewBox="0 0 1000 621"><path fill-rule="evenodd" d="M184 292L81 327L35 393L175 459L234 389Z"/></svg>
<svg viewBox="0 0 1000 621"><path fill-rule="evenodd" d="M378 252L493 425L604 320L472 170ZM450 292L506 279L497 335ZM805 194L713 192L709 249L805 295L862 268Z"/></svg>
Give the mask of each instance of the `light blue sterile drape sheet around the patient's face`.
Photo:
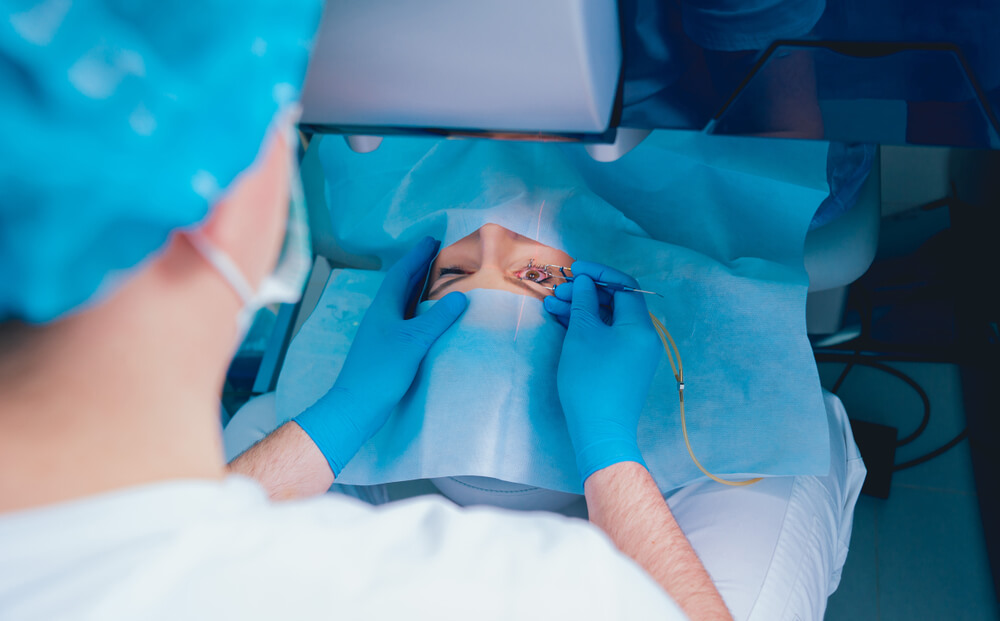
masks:
<svg viewBox="0 0 1000 621"><path fill-rule="evenodd" d="M328 137L320 149L344 250L388 266L424 235L447 245L495 222L630 273L663 295L646 301L683 357L700 461L730 476L826 473L802 257L828 193L826 143L654 132L613 163L564 144L389 138L357 154ZM279 422L333 385L382 275L331 275L286 356ZM478 475L582 491L556 393L564 330L534 298L491 290L469 298L338 483ZM662 490L702 476L684 445L666 357L639 444Z"/></svg>

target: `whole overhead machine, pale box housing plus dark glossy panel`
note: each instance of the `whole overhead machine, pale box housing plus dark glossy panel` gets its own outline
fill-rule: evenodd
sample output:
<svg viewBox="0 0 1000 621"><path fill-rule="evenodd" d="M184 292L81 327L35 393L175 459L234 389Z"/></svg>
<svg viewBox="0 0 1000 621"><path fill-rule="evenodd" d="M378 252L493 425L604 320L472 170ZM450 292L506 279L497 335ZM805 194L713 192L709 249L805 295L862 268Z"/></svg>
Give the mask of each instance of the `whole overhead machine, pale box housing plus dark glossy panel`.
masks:
<svg viewBox="0 0 1000 621"><path fill-rule="evenodd" d="M582 140L656 129L1000 147L1000 7L956 0L328 0L306 129Z"/></svg>

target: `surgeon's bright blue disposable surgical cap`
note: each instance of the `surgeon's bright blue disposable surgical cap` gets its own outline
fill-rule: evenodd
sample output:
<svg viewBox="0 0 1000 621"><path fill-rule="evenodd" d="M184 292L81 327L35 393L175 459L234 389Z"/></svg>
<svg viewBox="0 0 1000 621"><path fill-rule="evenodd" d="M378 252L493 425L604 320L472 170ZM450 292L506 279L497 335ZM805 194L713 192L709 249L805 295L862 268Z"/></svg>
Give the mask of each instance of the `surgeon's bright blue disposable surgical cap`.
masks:
<svg viewBox="0 0 1000 621"><path fill-rule="evenodd" d="M4 2L0 321L45 322L199 222L298 99L317 0Z"/></svg>

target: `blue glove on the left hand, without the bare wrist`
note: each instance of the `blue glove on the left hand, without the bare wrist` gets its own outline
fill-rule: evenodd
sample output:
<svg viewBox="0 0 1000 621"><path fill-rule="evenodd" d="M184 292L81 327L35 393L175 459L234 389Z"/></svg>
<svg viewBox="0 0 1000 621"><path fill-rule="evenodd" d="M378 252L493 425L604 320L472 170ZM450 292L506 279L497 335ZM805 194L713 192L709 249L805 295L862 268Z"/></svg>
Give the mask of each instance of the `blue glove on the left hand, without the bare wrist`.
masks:
<svg viewBox="0 0 1000 621"><path fill-rule="evenodd" d="M404 319L439 246L425 237L389 269L333 388L294 419L323 452L335 477L382 428L427 350L465 310L465 294L456 291L425 314Z"/></svg>

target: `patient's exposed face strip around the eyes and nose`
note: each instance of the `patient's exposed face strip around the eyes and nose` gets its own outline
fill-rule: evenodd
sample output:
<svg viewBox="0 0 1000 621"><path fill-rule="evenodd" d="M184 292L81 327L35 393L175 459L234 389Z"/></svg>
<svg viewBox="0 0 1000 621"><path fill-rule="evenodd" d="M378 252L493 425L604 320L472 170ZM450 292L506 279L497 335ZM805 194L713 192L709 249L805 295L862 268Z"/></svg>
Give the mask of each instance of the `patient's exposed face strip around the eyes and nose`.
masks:
<svg viewBox="0 0 1000 621"><path fill-rule="evenodd" d="M499 224L484 224L478 231L443 248L431 265L425 299L436 300L452 291L499 289L539 300L552 292L545 287L563 283L561 278L532 281L527 274L534 265L564 265L573 258L561 250L540 244ZM544 286L542 286L544 285Z"/></svg>

